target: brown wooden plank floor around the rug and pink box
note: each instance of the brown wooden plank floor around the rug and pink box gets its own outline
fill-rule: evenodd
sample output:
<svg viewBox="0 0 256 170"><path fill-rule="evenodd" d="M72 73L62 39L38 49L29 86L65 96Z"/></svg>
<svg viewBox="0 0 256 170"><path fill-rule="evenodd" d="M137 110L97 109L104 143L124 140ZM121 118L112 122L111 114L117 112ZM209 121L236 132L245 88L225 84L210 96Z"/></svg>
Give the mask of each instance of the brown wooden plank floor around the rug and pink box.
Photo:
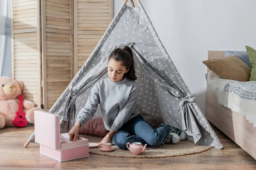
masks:
<svg viewBox="0 0 256 170"><path fill-rule="evenodd" d="M213 126L212 126L213 127ZM256 160L216 127L224 150L157 159L129 159L89 154L88 158L58 162L39 153L39 145L23 147L34 127L0 130L0 170L256 170Z"/></svg>

